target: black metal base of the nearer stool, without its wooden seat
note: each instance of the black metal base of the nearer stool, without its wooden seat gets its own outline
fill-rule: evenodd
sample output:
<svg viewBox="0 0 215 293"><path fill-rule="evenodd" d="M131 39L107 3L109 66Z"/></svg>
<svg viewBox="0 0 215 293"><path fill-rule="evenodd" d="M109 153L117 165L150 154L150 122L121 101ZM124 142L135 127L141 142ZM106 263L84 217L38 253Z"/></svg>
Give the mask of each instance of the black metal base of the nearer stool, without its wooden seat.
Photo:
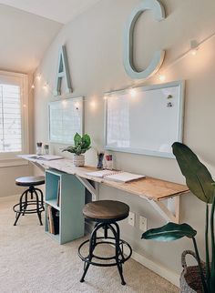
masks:
<svg viewBox="0 0 215 293"><path fill-rule="evenodd" d="M115 226L115 227L113 227ZM104 228L104 237L97 237L97 230L99 228L103 227ZM114 237L108 237L107 236L107 229L110 229L114 235ZM112 241L110 241L112 240ZM89 254L87 256L87 258L83 257L81 254L81 248L83 248L87 243L89 243ZM98 257L94 254L94 250L98 245L102 245L102 244L109 244L109 245L113 245L115 247L115 255L109 258L102 258L102 257ZM129 254L127 257L124 256L124 247L127 246L128 250L129 250ZM132 254L132 248L129 246L129 244L120 239L119 238L119 227L118 224L115 223L97 223L92 234L91 237L83 242L79 248L78 248L78 256L79 258L81 258L84 262L84 273L82 278L80 279L80 282L84 282L85 281L85 277L87 275L87 270L89 268L90 265L93 266L97 266L97 267L114 267L117 266L118 267L118 273L119 276L121 278L121 284L122 285L126 285L125 279L123 277L123 269L122 269L122 265L128 260L128 258L131 257ZM111 261L110 263L99 263L96 261L92 261L93 258L99 259L99 260L103 260L103 261Z"/></svg>

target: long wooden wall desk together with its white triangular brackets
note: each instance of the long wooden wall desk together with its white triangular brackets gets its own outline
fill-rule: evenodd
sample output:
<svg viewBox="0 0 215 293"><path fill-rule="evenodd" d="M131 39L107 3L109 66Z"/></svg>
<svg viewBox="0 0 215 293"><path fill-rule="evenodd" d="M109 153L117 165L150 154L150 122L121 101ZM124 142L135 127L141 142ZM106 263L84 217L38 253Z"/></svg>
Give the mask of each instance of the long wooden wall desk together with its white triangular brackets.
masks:
<svg viewBox="0 0 215 293"><path fill-rule="evenodd" d="M27 155L20 157L32 162L43 171L46 168L54 168L76 176L96 200L99 198L99 184L115 187L130 195L141 197L147 200L167 222L179 223L179 198L181 195L189 192L189 188L185 185L153 177L145 177L128 183L110 181L99 177L90 177L87 176L86 173L97 170L96 167L74 167L72 160L69 159L48 161L32 159ZM95 187L93 187L88 180L94 181L96 183Z"/></svg>

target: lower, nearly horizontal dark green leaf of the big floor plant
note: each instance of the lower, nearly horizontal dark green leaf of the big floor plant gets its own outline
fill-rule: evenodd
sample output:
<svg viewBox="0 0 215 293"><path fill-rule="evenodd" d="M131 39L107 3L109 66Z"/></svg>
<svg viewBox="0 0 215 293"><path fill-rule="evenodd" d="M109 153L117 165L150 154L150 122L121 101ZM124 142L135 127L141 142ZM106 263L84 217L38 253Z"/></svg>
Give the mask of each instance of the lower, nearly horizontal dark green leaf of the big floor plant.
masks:
<svg viewBox="0 0 215 293"><path fill-rule="evenodd" d="M143 233L142 238L156 241L172 241L182 237L195 237L197 231L188 224L175 224L169 222L167 225L149 229Z"/></svg>

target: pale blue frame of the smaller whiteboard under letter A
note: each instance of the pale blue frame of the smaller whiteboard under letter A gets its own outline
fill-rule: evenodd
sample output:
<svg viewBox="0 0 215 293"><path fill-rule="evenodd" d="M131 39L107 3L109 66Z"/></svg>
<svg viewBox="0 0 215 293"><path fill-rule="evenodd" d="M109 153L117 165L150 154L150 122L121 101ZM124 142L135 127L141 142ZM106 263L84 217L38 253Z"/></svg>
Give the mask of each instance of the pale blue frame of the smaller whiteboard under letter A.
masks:
<svg viewBox="0 0 215 293"><path fill-rule="evenodd" d="M52 143L52 144L58 144L58 145L71 145L71 146L74 146L74 141L71 141L71 142L59 142L59 141L55 141L55 140L52 140L50 138L50 106L53 104L53 103L56 103L56 102L63 102L63 101L67 101L67 100L73 100L73 99L76 99L78 100L78 103L81 103L81 106L82 106L82 118L81 118L81 132L79 133L79 135L83 136L84 134L84 114L85 114L85 107L84 107L84 96L74 96L74 97L67 97L67 98L64 98L64 99L56 99L56 100L53 100L53 101L50 101L48 103L48 107L47 107L47 112L48 112L48 141L49 143Z"/></svg>

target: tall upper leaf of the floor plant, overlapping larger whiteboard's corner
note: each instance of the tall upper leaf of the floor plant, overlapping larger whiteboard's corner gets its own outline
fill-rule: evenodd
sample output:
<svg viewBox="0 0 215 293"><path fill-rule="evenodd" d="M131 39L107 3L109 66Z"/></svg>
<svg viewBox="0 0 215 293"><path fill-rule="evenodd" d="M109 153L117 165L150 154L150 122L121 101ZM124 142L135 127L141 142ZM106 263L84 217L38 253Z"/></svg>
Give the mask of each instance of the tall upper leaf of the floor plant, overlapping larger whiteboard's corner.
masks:
<svg viewBox="0 0 215 293"><path fill-rule="evenodd" d="M177 142L172 145L172 148L181 173L186 177L189 190L200 200L211 204L214 197L214 187L211 184L214 180L207 167L189 147Z"/></svg>

